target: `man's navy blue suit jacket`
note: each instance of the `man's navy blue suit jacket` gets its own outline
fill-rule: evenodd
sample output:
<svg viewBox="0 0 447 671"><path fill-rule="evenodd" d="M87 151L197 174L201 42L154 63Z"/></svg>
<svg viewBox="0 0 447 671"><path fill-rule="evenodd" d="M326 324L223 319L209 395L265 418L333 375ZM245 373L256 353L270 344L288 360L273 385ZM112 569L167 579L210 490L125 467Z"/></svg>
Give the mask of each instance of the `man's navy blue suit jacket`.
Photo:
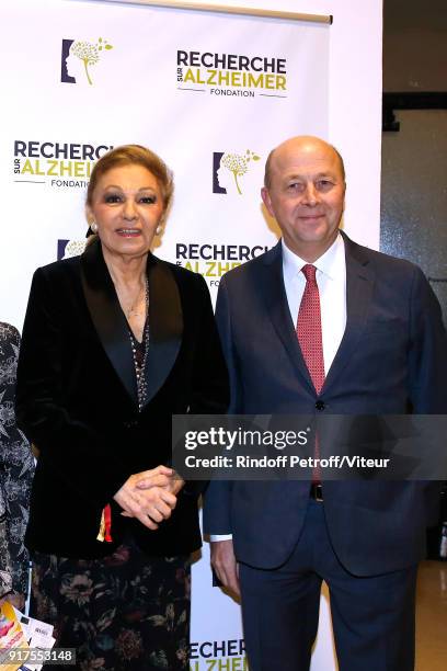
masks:
<svg viewBox="0 0 447 671"><path fill-rule="evenodd" d="M290 318L280 242L222 278L217 320L231 412L447 412L447 338L422 271L344 241L346 329L320 395ZM331 541L348 571L379 575L423 557L426 486L326 481L323 490ZM215 481L206 494L205 532L232 533L240 561L275 568L298 541L308 500L305 481Z"/></svg>

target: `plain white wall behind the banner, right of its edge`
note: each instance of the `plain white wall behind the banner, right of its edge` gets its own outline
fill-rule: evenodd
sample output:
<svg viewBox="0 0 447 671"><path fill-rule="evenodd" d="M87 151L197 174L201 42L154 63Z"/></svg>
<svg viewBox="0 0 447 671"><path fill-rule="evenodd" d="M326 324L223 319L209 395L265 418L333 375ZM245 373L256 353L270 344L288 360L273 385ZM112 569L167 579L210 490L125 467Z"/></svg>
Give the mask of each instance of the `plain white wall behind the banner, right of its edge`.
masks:
<svg viewBox="0 0 447 671"><path fill-rule="evenodd" d="M198 0L190 2L199 4ZM357 242L378 249L382 0L207 0L207 3L333 15L329 140L346 164L344 225Z"/></svg>

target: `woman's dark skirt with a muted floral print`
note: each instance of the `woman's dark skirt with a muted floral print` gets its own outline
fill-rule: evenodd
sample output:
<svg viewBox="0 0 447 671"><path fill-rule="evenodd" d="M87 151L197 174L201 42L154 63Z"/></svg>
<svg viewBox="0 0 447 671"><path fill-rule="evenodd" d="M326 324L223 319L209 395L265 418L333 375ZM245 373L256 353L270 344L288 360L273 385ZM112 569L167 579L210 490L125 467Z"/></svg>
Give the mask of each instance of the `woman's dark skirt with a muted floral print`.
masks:
<svg viewBox="0 0 447 671"><path fill-rule="evenodd" d="M149 557L133 541L103 559L34 553L31 615L54 625L55 647L76 648L80 671L180 671L190 587L190 557Z"/></svg>

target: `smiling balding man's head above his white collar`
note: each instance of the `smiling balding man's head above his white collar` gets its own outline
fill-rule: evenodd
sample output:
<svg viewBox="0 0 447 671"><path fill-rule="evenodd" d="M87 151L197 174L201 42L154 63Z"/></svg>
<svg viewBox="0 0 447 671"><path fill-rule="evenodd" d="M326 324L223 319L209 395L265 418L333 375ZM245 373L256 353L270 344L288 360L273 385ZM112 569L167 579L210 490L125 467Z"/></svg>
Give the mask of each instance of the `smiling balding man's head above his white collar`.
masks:
<svg viewBox="0 0 447 671"><path fill-rule="evenodd" d="M318 138L293 138L271 161L271 185L262 190L287 247L313 262L335 240L344 208L345 182L333 148Z"/></svg>

